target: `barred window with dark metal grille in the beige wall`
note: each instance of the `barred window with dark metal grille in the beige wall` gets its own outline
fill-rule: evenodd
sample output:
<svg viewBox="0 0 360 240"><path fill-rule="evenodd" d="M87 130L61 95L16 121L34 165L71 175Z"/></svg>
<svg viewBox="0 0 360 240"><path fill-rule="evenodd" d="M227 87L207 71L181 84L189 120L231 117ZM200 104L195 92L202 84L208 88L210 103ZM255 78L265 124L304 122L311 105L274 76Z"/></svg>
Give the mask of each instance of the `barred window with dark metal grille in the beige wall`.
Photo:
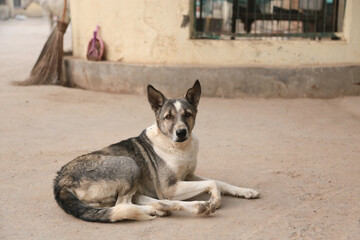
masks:
<svg viewBox="0 0 360 240"><path fill-rule="evenodd" d="M346 0L194 0L193 38L340 39Z"/></svg>

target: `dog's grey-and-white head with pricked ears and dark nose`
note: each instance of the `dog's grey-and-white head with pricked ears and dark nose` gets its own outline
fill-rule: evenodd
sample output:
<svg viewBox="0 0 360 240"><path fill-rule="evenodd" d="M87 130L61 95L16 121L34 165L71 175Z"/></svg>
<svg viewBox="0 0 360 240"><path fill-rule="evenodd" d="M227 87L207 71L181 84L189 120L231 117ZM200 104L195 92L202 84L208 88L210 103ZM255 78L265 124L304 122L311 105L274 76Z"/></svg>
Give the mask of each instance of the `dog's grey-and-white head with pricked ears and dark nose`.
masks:
<svg viewBox="0 0 360 240"><path fill-rule="evenodd" d="M167 99L151 85L147 87L147 95L160 131L174 142L186 141L195 125L201 95L199 80L183 98Z"/></svg>

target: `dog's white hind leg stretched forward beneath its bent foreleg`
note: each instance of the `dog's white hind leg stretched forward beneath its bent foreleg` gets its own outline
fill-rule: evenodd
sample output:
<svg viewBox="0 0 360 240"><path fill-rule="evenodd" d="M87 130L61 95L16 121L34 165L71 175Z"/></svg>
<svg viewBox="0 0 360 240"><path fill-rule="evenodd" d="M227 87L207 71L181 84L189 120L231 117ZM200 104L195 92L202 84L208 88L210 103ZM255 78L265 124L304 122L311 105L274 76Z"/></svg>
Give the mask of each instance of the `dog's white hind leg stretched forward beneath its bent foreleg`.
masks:
<svg viewBox="0 0 360 240"><path fill-rule="evenodd" d="M155 209L164 211L168 214L175 211L186 211L196 215L208 215L210 203L208 201L177 201L177 200L158 200L145 195L135 195L133 202L139 205L153 206Z"/></svg>

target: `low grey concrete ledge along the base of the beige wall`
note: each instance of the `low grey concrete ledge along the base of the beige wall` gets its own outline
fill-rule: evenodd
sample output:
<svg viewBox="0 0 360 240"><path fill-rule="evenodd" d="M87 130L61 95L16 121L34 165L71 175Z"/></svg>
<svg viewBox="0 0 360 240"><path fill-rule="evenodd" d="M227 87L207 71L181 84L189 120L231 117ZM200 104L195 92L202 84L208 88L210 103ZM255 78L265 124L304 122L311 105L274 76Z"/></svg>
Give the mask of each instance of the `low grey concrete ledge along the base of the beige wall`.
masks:
<svg viewBox="0 0 360 240"><path fill-rule="evenodd" d="M168 96L177 96L199 79L203 96L310 97L360 95L360 65L316 67L217 67L137 65L65 58L65 76L71 85L113 93L144 94L153 84Z"/></svg>

